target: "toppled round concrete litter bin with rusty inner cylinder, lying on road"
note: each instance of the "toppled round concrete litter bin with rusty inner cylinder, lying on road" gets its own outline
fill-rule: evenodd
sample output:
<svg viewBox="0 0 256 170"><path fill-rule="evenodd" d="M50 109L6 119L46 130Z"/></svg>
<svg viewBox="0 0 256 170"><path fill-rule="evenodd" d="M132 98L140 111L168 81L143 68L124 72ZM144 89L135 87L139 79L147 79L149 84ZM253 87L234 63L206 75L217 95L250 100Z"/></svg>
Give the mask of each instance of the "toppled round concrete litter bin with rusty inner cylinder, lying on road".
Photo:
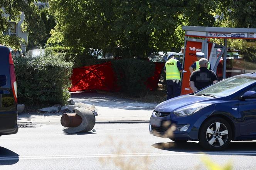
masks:
<svg viewBox="0 0 256 170"><path fill-rule="evenodd" d="M74 108L77 116L64 114L61 117L61 122L69 127L64 127L62 130L67 133L77 132L89 132L95 125L95 115L92 110L86 108ZM76 115L75 114L75 115ZM79 124L79 116L82 118L82 122ZM61 123L61 124L62 124ZM78 125L78 126L77 126ZM62 125L63 126L63 125ZM77 127L76 127L77 126Z"/></svg>

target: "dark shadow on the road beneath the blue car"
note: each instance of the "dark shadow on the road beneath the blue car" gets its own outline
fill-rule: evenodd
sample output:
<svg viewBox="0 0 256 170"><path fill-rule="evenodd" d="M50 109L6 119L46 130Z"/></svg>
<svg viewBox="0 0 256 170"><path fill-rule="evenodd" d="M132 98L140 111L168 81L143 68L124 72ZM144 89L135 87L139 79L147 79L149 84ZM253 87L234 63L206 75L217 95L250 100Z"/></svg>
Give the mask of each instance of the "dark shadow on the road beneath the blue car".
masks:
<svg viewBox="0 0 256 170"><path fill-rule="evenodd" d="M231 142L223 151L205 150L198 142L167 142L152 145L161 150L187 153L205 153L208 155L250 155L256 156L256 142Z"/></svg>

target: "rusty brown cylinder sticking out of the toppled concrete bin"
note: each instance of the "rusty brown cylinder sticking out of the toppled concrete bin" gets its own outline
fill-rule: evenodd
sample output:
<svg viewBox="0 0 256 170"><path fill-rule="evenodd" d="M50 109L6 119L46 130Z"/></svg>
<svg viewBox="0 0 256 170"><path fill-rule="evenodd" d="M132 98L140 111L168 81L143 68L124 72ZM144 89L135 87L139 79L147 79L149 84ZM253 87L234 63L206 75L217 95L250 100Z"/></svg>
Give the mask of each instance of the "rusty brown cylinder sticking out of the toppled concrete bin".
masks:
<svg viewBox="0 0 256 170"><path fill-rule="evenodd" d="M61 117L61 125L64 127L78 127L81 123L82 118L76 113L65 113Z"/></svg>

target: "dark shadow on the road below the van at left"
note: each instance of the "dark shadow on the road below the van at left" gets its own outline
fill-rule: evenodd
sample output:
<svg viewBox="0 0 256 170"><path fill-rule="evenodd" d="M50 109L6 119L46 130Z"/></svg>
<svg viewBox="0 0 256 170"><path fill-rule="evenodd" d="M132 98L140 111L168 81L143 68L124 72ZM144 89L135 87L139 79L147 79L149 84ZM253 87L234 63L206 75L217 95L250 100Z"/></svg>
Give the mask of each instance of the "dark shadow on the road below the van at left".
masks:
<svg viewBox="0 0 256 170"><path fill-rule="evenodd" d="M13 165L19 162L19 156L7 148L0 147L0 165Z"/></svg>

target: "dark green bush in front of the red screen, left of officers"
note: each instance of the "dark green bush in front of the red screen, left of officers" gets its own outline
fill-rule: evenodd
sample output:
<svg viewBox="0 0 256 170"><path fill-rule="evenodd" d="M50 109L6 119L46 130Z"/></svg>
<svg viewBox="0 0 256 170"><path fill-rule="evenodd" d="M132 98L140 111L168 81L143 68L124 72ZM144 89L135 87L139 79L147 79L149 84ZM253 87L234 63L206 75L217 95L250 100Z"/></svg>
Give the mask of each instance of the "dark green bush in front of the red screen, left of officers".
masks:
<svg viewBox="0 0 256 170"><path fill-rule="evenodd" d="M146 82L155 72L155 63L146 60L113 60L112 66L121 92L134 97L141 97L148 90Z"/></svg>

